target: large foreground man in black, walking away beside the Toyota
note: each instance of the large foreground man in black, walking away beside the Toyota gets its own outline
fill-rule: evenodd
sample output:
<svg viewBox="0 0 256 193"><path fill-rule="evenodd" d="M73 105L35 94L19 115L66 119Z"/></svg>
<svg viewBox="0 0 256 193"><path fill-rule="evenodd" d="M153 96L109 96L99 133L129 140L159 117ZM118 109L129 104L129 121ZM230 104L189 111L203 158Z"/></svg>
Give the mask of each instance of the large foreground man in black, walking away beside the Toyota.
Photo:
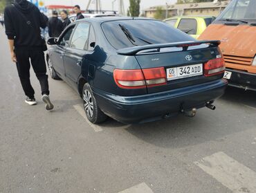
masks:
<svg viewBox="0 0 256 193"><path fill-rule="evenodd" d="M46 109L53 109L49 98L48 75L44 59L44 41L40 27L46 28L46 21L38 8L26 0L16 0L4 11L6 35L10 45L12 61L16 62L21 86L27 96L25 102L33 105L35 91L30 84L30 62L42 89L42 100Z"/></svg>

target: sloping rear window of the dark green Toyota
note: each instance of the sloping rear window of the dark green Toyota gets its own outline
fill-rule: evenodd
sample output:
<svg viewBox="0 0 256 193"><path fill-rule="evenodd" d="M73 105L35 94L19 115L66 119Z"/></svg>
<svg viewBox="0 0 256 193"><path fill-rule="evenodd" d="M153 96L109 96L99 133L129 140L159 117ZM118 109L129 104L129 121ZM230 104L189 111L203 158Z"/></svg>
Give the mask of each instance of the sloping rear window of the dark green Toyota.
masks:
<svg viewBox="0 0 256 193"><path fill-rule="evenodd" d="M124 28L127 29L131 38L128 38L124 30L122 30ZM162 21L154 20L107 21L102 24L102 30L109 43L116 49L148 44L194 41L194 38L182 33L180 30Z"/></svg>

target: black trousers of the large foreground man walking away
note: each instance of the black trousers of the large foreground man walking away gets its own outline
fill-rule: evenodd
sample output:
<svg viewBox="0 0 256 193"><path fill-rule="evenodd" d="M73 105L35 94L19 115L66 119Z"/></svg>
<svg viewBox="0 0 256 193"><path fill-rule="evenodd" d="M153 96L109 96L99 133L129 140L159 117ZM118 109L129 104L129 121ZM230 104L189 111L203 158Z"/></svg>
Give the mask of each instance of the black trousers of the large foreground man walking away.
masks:
<svg viewBox="0 0 256 193"><path fill-rule="evenodd" d="M29 98L34 98L35 91L30 84L30 62L37 79L40 82L42 95L49 95L48 75L46 75L46 62L44 59L44 52L42 50L15 50L17 57L17 70L21 86L25 95Z"/></svg>

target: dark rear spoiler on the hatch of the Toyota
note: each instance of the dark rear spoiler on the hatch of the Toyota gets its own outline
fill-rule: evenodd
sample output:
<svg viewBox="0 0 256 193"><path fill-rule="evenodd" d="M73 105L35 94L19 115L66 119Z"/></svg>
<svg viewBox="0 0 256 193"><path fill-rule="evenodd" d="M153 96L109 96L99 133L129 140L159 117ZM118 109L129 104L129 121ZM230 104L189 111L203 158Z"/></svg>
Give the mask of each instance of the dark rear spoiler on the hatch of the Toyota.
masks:
<svg viewBox="0 0 256 193"><path fill-rule="evenodd" d="M168 44L150 44L146 46L134 46L131 48L123 48L117 51L118 55L136 55L136 53L143 50L160 49L160 48L170 48L170 47L182 47L183 50L188 50L189 46L198 46L200 44L209 44L209 46L219 46L221 41L211 40L211 41L194 41L194 42L176 42Z"/></svg>

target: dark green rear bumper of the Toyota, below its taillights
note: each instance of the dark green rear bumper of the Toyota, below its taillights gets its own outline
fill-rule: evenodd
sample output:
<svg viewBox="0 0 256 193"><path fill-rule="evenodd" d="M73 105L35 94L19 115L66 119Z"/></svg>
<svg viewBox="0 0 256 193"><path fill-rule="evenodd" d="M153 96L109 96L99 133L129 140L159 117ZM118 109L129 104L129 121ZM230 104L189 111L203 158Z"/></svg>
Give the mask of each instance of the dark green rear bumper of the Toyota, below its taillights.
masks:
<svg viewBox="0 0 256 193"><path fill-rule="evenodd" d="M228 82L216 80L204 84L188 86L172 91L123 97L93 89L100 109L111 118L124 123L141 123L160 120L181 110L205 107L205 102L213 101L225 92Z"/></svg>

